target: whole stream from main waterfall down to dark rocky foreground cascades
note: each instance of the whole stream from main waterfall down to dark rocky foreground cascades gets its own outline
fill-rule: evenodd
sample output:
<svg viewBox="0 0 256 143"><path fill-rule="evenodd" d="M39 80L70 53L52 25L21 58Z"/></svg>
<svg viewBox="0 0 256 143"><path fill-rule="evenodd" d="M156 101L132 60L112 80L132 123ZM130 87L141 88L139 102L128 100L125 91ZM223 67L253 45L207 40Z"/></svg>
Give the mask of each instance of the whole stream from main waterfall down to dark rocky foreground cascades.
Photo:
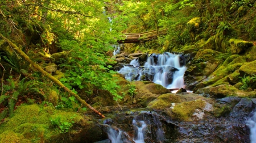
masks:
<svg viewBox="0 0 256 143"><path fill-rule="evenodd" d="M116 47L114 54L120 52ZM182 55L147 54L144 61L134 58L118 70L128 81L152 81L167 89L185 88L187 70ZM179 96L200 96L184 92ZM147 108L113 113L102 121L102 128L112 143L132 142L256 142L255 104L248 98L226 97L213 99L214 106L228 107L223 115L197 110L191 121L177 121L167 116L166 110ZM209 103L208 103L209 104ZM210 106L213 106L210 105ZM170 107L171 108L171 107ZM204 117L198 119L195 116ZM253 115L250 117L250 115ZM102 142L103 143L103 142Z"/></svg>

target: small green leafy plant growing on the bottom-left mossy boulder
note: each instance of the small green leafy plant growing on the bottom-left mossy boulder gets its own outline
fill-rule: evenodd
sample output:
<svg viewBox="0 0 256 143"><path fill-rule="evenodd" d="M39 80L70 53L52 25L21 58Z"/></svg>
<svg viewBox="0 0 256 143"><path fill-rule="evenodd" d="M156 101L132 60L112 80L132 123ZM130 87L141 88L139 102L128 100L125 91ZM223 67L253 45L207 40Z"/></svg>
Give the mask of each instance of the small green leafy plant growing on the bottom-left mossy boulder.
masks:
<svg viewBox="0 0 256 143"><path fill-rule="evenodd" d="M73 119L76 115L74 114L72 117L70 117L70 119ZM63 121L61 120L61 117L55 117L53 119L51 119L51 123L53 126L58 127L61 130L61 133L67 133L69 131L69 129L71 129L73 123L75 123L74 121Z"/></svg>

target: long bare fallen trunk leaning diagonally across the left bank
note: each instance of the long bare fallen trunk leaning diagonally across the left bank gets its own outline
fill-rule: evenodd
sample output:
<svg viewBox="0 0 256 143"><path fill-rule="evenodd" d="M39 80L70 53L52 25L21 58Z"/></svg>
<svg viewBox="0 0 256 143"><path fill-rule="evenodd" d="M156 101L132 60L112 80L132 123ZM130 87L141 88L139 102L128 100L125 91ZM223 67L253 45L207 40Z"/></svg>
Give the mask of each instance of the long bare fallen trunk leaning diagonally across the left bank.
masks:
<svg viewBox="0 0 256 143"><path fill-rule="evenodd" d="M69 94L75 96L75 98L77 100L79 100L79 102L81 102L82 104L84 104L86 107L90 108L90 110L96 112L98 115L100 115L101 117L105 117L104 115L102 115L100 112L98 112L96 109L94 109L92 106L90 106L88 103L85 102L85 100L82 100L80 98L79 95L75 94L74 92L72 92L71 90L69 90L66 86L63 85L63 83L61 83L58 79L56 79L55 77L53 77L51 74L47 73L46 71L44 71L38 64L36 64L34 61L32 61L30 59L30 57L27 56L26 53L24 53L21 49L19 49L19 47L17 47L14 43L12 43L9 39L7 39L5 36L3 36L0 33L0 36L5 39L7 41L7 43L9 43L10 47L12 47L17 53L20 54L20 56L22 56L24 58L25 61L29 62L36 70L38 70L40 73L42 73L44 76L46 76L47 78L49 78L52 82L55 82L58 86L60 86L61 88L63 88L65 91L67 91Z"/></svg>

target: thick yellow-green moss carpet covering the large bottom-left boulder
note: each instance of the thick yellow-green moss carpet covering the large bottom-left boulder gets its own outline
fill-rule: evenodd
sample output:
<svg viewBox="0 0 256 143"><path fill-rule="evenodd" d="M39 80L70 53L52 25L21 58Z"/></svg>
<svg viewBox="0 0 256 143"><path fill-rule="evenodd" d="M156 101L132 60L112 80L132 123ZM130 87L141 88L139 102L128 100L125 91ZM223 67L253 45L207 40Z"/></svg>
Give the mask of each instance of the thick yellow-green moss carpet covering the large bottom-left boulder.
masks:
<svg viewBox="0 0 256 143"><path fill-rule="evenodd" d="M76 112L59 111L52 106L43 107L38 104L23 105L15 110L12 118L6 119L0 125L0 134L5 132L21 134L27 140L34 142L44 142L50 140L52 136L62 137L60 129L51 124L51 119L56 117L69 123L75 121L76 125L86 124L84 117ZM70 132L73 130L71 129ZM1 136L3 135L0 135L0 138Z"/></svg>

